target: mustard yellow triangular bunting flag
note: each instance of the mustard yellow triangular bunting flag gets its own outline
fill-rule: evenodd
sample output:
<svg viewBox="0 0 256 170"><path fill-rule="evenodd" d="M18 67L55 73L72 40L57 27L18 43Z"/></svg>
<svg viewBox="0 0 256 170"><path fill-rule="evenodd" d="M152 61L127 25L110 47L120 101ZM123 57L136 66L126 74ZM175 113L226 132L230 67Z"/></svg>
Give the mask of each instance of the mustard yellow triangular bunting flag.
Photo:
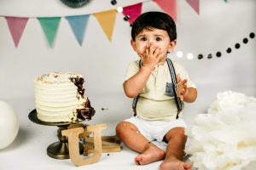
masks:
<svg viewBox="0 0 256 170"><path fill-rule="evenodd" d="M102 29L107 35L109 42L111 42L116 10L113 9L113 10L104 11L101 13L96 13L93 15L96 17L96 19L102 26Z"/></svg>

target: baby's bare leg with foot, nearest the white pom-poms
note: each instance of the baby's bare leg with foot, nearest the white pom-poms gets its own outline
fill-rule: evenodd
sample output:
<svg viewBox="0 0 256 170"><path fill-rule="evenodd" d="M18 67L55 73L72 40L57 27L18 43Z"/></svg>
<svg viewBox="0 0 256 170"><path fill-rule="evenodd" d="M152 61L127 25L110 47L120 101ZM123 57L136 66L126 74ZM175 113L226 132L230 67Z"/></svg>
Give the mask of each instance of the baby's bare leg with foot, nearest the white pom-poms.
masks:
<svg viewBox="0 0 256 170"><path fill-rule="evenodd" d="M187 136L184 134L184 128L172 128L166 133L166 140L169 141L166 148L166 158L165 161L160 164L160 170L190 170L191 164L181 161L187 141Z"/></svg>

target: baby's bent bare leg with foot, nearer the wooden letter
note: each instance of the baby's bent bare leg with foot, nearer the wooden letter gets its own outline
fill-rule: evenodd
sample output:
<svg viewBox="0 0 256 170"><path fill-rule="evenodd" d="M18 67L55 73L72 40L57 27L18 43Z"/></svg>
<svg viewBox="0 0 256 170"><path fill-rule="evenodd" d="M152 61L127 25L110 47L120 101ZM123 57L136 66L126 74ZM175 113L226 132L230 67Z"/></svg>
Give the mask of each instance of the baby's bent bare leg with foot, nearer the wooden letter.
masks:
<svg viewBox="0 0 256 170"><path fill-rule="evenodd" d="M165 151L148 141L131 122L120 122L116 133L129 148L141 153L135 158L137 165L145 165L164 158Z"/></svg>

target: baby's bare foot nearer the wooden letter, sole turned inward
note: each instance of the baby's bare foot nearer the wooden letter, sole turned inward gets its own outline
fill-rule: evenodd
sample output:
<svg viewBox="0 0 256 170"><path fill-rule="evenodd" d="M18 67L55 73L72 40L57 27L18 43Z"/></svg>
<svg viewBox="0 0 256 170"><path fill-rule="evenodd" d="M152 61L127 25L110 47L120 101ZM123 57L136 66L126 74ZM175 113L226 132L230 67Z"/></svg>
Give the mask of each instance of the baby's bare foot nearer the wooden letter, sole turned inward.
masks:
<svg viewBox="0 0 256 170"><path fill-rule="evenodd" d="M165 155L164 150L160 150L160 148L156 147L154 144L150 144L147 150L135 157L134 161L137 165L146 165L153 161L160 161Z"/></svg>

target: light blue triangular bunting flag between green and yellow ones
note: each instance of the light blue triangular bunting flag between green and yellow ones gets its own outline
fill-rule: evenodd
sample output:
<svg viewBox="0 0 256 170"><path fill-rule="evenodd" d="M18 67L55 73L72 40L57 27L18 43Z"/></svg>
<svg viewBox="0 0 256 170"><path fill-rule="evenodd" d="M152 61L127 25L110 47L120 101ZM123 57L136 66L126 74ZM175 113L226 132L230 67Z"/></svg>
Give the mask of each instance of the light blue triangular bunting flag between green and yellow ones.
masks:
<svg viewBox="0 0 256 170"><path fill-rule="evenodd" d="M77 41L80 46L83 44L84 40L84 31L87 26L87 21L89 19L90 14L85 15L75 15L75 16L67 16L66 19L71 26Z"/></svg>

